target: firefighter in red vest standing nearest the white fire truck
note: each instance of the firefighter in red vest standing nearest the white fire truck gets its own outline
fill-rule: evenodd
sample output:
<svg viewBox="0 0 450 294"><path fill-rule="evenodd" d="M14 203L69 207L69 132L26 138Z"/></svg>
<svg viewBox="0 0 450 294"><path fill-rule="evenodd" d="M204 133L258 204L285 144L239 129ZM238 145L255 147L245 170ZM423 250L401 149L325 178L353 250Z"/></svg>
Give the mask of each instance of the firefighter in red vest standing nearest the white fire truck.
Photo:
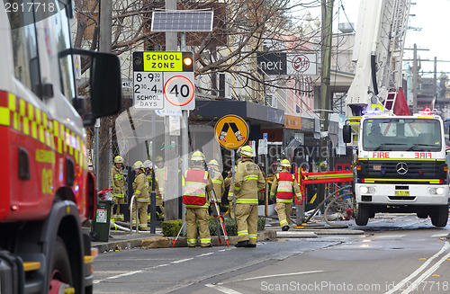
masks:
<svg viewBox="0 0 450 294"><path fill-rule="evenodd" d="M275 175L272 188L270 189L270 198L275 200L276 194L276 210L280 226L284 231L289 229L291 225L291 212L293 212L293 192L297 200L302 200L302 192L300 192L299 184L295 176L289 173L291 163L287 159L283 159L280 164L282 170Z"/></svg>

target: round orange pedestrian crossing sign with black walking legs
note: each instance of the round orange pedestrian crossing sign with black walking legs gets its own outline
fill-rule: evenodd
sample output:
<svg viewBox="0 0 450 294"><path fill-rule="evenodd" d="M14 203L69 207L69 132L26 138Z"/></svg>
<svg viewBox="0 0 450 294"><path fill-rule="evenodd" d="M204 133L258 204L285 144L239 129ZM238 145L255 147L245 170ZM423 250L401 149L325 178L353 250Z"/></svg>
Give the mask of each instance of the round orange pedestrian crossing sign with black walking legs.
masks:
<svg viewBox="0 0 450 294"><path fill-rule="evenodd" d="M237 115L221 117L214 127L214 137L221 147L227 149L238 149L246 144L248 134L247 122Z"/></svg>

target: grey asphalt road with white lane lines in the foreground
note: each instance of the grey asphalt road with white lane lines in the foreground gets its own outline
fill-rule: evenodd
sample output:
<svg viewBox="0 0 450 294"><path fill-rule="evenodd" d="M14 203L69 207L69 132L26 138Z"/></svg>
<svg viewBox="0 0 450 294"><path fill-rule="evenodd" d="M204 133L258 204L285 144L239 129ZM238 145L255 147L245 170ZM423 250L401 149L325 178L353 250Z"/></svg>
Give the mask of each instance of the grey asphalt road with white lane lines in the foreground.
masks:
<svg viewBox="0 0 450 294"><path fill-rule="evenodd" d="M257 248L99 254L94 293L448 293L449 227L377 215L364 235L278 239ZM450 225L449 225L450 226Z"/></svg>

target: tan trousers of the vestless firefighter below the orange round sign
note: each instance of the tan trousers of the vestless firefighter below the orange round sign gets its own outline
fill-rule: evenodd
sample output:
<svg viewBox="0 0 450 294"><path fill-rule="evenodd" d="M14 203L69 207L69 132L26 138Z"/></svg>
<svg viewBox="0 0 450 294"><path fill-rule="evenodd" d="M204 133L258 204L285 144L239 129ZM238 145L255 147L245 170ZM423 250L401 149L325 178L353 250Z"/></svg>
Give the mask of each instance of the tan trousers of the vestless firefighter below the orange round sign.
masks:
<svg viewBox="0 0 450 294"><path fill-rule="evenodd" d="M236 204L238 242L257 244L257 204Z"/></svg>

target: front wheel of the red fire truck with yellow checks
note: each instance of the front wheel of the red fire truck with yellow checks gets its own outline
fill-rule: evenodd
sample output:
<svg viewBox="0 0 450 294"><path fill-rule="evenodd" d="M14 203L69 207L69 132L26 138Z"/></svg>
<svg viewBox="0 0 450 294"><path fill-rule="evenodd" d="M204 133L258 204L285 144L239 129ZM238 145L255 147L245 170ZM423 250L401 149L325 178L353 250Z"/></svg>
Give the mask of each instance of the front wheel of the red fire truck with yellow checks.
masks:
<svg viewBox="0 0 450 294"><path fill-rule="evenodd" d="M61 293L60 290L73 289L72 270L66 245L58 236L51 256L49 294Z"/></svg>

